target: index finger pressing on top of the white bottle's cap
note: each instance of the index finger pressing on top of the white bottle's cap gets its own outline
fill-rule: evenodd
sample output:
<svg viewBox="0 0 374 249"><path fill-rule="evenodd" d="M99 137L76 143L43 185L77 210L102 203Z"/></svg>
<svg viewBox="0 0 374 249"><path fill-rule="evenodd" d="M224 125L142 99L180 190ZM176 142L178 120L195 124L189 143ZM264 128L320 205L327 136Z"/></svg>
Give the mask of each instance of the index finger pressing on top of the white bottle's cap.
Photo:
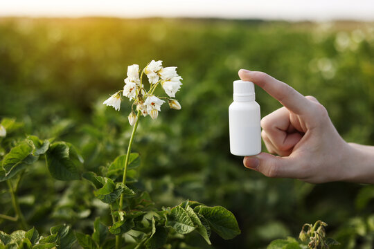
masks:
<svg viewBox="0 0 374 249"><path fill-rule="evenodd" d="M310 101L301 93L266 73L240 69L239 77L260 86L293 113L305 114L312 107Z"/></svg>

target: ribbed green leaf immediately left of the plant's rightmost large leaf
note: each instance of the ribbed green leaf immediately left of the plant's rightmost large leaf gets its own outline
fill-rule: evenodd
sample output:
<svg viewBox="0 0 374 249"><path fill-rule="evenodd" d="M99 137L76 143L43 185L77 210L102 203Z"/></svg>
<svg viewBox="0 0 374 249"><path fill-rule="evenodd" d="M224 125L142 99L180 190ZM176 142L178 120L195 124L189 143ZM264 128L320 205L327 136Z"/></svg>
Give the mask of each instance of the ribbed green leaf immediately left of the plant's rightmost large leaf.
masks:
<svg viewBox="0 0 374 249"><path fill-rule="evenodd" d="M195 225L186 210L176 206L166 214L166 226L174 228L180 234L188 234L195 230Z"/></svg>

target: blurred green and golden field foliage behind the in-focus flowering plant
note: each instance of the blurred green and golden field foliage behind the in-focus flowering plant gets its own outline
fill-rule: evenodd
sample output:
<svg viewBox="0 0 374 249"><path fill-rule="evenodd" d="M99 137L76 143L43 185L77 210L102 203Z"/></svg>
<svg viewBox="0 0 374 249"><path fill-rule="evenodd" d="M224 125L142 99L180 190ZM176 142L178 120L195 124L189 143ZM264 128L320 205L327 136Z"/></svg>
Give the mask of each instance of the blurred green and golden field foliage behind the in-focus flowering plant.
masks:
<svg viewBox="0 0 374 249"><path fill-rule="evenodd" d="M127 65L161 59L178 66L184 85L177 93L181 111L163 108L157 120L144 118L134 142L143 165L137 185L155 203L193 199L231 210L242 234L231 241L213 235L212 248L263 248L318 219L340 248L370 248L373 187L310 185L244 169L242 158L229 153L228 107L238 69L265 71L314 95L344 139L374 145L373 58L368 23L3 18L0 118L17 118L39 138L73 143L84 167L95 171L125 153L131 132L130 104L123 101L118 115L103 100L123 86ZM256 92L262 116L280 107ZM88 184L54 183L41 162L30 173L19 187L20 203L39 232L59 222L87 231L92 217L105 216ZM11 213L8 193L0 192L0 203L1 213ZM0 228L17 229L3 220Z"/></svg>

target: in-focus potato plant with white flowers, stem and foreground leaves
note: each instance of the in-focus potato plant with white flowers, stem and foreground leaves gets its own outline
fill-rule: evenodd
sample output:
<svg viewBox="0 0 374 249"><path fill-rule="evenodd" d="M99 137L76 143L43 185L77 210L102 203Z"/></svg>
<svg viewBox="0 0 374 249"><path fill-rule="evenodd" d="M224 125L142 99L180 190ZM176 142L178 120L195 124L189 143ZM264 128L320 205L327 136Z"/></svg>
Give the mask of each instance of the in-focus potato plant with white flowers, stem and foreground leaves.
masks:
<svg viewBox="0 0 374 249"><path fill-rule="evenodd" d="M156 62L148 64L140 78L139 66L129 66L130 73L127 75L132 78L130 81L125 80L127 83L124 91L115 93L104 102L119 110L117 101L121 102L122 94L134 100L137 115L134 116L132 111L129 116L129 122L134 128L127 154L119 155L107 167L100 167L96 172L80 170L84 158L71 143L53 138L42 140L32 135L26 138L15 136L21 124L11 119L2 120L1 127L8 134L4 133L1 140L0 181L8 184L13 216L1 214L0 219L18 223L22 230L10 234L1 232L0 248L73 248L78 245L91 249L177 248L183 243L184 235L190 232L200 234L209 245L211 232L216 232L223 239L232 239L240 234L235 216L222 206L209 207L197 201L186 200L175 207L158 210L150 194L134 185L139 181L137 169L140 155L131 150L139 118L141 114L157 118L159 107L163 103L162 97L153 95L158 84L163 86L169 97L175 97L181 84L181 77L175 75L175 68L171 68L171 71L168 71L170 68L164 69L161 66L153 68L152 73L159 74L160 80L158 75L152 75L149 69L152 63ZM163 74L162 70L166 73ZM148 92L145 92L141 84L143 72L148 74L149 79L156 79ZM175 77L178 82L172 81ZM129 85L131 87L127 87ZM181 109L177 100L166 99L170 108ZM109 209L112 222L103 223L97 217L91 225L91 234L74 231L69 225L60 224L52 226L50 234L40 235L32 227L33 224L25 219L17 196L25 172L32 174L33 165L38 160L45 160L49 173L57 181L89 181L94 196Z"/></svg>

